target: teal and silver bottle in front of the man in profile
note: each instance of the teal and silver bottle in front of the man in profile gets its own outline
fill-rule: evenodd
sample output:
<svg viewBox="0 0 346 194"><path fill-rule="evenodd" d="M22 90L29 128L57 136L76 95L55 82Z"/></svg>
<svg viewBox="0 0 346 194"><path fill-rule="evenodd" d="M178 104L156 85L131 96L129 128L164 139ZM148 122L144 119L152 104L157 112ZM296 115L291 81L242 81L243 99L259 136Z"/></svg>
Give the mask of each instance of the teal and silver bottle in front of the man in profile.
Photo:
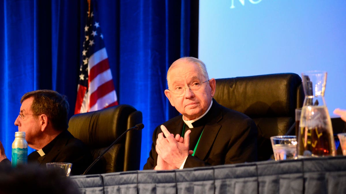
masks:
<svg viewBox="0 0 346 194"><path fill-rule="evenodd" d="M28 143L25 140L25 132L16 132L12 143L12 167L28 163Z"/></svg>

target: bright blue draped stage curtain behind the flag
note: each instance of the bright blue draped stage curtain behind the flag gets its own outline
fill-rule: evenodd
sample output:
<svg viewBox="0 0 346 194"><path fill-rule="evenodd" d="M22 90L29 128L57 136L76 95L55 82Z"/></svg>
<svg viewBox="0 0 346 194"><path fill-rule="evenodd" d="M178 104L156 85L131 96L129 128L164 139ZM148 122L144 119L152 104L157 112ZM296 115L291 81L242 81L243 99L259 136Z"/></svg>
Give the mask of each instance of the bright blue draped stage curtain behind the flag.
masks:
<svg viewBox="0 0 346 194"><path fill-rule="evenodd" d="M180 57L197 57L198 1L97 0L94 6L118 102L143 113L142 169L154 128L178 115L164 95L166 72ZM73 115L88 7L86 0L4 0L0 9L0 140L10 158L23 94L56 90L68 97Z"/></svg>

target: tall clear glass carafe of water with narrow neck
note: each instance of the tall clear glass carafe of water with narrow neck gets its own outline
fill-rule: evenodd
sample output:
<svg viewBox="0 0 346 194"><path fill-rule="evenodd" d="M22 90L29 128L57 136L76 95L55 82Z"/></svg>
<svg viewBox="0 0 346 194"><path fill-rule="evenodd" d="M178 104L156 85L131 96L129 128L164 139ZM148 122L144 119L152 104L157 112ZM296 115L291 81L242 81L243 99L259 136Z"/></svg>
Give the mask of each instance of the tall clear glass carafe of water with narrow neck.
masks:
<svg viewBox="0 0 346 194"><path fill-rule="evenodd" d="M300 116L297 137L298 158L308 156L335 156L333 128L324 99L327 72L302 73L305 99Z"/></svg>

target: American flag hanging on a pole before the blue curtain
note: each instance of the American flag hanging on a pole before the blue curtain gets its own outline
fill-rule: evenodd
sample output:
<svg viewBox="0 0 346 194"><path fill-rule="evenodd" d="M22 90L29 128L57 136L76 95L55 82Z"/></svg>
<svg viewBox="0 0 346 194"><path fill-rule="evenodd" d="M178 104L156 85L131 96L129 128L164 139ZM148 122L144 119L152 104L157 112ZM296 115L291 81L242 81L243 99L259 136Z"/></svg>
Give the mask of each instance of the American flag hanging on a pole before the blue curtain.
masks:
<svg viewBox="0 0 346 194"><path fill-rule="evenodd" d="M100 23L92 11L86 12L82 61L74 114L118 105Z"/></svg>

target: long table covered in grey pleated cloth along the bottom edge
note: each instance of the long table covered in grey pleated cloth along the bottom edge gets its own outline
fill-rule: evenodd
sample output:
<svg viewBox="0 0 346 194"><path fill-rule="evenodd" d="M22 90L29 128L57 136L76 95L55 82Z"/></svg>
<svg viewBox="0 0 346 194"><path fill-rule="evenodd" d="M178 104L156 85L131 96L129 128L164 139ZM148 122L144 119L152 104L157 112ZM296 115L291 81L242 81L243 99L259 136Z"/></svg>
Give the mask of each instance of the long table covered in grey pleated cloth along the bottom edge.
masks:
<svg viewBox="0 0 346 194"><path fill-rule="evenodd" d="M346 156L70 177L81 193L346 193Z"/></svg>

